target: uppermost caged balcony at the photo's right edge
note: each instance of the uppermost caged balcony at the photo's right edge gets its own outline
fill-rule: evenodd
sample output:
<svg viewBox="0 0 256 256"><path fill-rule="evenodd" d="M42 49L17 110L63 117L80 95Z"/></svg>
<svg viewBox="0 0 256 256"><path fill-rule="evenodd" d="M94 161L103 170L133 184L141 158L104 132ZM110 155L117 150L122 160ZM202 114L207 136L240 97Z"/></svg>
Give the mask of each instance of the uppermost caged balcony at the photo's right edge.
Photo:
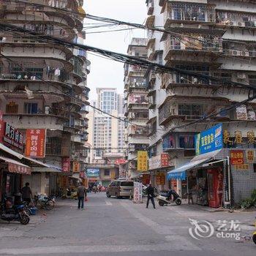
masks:
<svg viewBox="0 0 256 256"><path fill-rule="evenodd" d="M246 12L217 12L217 24L219 26L234 26L241 28L256 28L256 15Z"/></svg>

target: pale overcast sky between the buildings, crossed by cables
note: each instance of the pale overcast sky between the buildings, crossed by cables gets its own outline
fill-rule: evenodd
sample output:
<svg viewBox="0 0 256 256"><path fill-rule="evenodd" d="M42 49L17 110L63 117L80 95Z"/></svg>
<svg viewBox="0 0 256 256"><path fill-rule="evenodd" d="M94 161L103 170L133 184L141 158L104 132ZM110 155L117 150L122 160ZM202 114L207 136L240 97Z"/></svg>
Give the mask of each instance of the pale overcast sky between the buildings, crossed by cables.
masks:
<svg viewBox="0 0 256 256"><path fill-rule="evenodd" d="M147 17L145 2L146 0L86 0L84 9L90 15L142 24ZM88 23L99 22L85 19L84 26L92 26ZM132 37L146 37L146 31L141 29L89 34L94 31L113 29L122 29L122 27L86 29L85 44L118 53L127 53ZM118 93L124 93L123 63L93 56L90 53L88 59L91 61L91 73L88 76L88 86L91 89L90 101L97 98L97 87L117 88Z"/></svg>

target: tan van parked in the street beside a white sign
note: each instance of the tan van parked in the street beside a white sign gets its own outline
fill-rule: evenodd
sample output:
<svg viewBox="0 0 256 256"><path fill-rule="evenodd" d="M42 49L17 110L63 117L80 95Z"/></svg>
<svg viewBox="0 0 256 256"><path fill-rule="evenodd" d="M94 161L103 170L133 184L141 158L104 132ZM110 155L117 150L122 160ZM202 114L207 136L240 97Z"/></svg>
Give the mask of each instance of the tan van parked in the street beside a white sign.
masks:
<svg viewBox="0 0 256 256"><path fill-rule="evenodd" d="M108 185L107 197L129 197L133 195L133 181L113 181Z"/></svg>

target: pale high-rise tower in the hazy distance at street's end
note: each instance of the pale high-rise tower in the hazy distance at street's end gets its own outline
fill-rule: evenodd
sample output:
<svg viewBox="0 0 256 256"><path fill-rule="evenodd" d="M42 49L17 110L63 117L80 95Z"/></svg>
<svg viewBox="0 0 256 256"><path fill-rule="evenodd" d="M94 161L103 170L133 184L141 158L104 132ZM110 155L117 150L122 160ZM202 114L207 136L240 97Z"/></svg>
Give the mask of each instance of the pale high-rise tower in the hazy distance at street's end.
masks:
<svg viewBox="0 0 256 256"><path fill-rule="evenodd" d="M97 109L89 112L89 143L91 162L111 162L124 157L124 95L113 88L97 88ZM108 114L116 116L113 118Z"/></svg>

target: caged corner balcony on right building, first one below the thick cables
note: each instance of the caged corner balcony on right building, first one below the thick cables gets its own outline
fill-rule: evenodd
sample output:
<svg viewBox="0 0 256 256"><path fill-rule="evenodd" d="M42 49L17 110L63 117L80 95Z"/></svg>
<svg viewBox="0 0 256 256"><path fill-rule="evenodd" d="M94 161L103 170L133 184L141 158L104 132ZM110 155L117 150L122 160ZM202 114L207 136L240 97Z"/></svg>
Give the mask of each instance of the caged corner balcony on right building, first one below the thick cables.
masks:
<svg viewBox="0 0 256 256"><path fill-rule="evenodd" d="M204 118L211 113L227 108L223 100L209 104L207 99L184 99L167 97L165 102L159 107L159 125L165 125L174 118L181 118L184 121L192 121ZM229 116L227 113L221 113L217 118L227 120Z"/></svg>

